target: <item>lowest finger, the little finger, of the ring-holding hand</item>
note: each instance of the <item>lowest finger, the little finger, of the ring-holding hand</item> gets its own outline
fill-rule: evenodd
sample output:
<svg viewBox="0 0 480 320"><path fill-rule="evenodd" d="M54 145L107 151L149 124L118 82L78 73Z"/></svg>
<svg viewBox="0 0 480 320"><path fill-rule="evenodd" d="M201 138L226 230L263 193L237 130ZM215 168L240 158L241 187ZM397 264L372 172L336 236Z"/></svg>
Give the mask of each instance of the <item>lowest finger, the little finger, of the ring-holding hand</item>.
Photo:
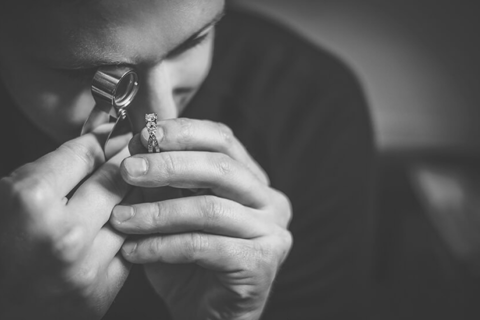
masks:
<svg viewBox="0 0 480 320"><path fill-rule="evenodd" d="M128 240L121 252L133 263L196 263L214 271L234 272L277 266L290 246L291 235L284 229L256 240L188 232Z"/></svg>

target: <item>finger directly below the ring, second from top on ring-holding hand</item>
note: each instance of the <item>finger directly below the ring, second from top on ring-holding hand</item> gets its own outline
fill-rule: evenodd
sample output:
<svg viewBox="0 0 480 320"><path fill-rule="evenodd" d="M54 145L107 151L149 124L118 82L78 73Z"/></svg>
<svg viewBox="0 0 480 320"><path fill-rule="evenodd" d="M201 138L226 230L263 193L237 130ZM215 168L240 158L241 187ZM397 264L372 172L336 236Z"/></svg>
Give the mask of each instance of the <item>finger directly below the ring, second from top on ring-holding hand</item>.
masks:
<svg viewBox="0 0 480 320"><path fill-rule="evenodd" d="M268 203L268 187L231 157L216 152L172 151L126 158L126 182L142 187L209 188L218 196L251 207Z"/></svg>

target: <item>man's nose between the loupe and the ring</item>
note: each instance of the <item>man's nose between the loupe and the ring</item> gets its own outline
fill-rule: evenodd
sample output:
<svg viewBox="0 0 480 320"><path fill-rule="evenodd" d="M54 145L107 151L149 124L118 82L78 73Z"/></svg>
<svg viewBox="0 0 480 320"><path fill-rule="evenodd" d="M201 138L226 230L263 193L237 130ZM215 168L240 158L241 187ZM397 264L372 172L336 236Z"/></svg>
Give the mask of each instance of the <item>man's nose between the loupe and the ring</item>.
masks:
<svg viewBox="0 0 480 320"><path fill-rule="evenodd" d="M167 63L137 68L139 89L128 107L133 133L145 126L145 113L155 112L159 120L178 116L169 71Z"/></svg>

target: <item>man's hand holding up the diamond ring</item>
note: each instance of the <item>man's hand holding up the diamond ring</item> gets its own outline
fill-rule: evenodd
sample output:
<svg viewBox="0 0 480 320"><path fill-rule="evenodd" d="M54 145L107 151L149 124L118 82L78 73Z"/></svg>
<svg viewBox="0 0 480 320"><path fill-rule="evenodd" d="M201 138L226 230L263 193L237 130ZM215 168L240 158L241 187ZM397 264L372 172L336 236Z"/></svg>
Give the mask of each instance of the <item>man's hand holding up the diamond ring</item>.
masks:
<svg viewBox="0 0 480 320"><path fill-rule="evenodd" d="M223 124L169 119L156 135L162 151L126 158L125 181L209 194L116 206L112 226L136 235L123 256L145 264L175 319L259 318L291 246L288 198ZM148 133L135 139L146 147Z"/></svg>

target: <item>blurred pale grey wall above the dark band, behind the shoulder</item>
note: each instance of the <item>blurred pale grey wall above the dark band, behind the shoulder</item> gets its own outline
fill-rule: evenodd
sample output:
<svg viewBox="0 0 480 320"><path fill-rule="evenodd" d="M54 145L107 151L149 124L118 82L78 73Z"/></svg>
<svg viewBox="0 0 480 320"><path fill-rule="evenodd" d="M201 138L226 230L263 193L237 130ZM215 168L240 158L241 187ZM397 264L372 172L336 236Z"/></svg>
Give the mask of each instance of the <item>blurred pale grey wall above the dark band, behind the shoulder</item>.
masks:
<svg viewBox="0 0 480 320"><path fill-rule="evenodd" d="M382 149L480 146L476 1L241 0L342 57Z"/></svg>

